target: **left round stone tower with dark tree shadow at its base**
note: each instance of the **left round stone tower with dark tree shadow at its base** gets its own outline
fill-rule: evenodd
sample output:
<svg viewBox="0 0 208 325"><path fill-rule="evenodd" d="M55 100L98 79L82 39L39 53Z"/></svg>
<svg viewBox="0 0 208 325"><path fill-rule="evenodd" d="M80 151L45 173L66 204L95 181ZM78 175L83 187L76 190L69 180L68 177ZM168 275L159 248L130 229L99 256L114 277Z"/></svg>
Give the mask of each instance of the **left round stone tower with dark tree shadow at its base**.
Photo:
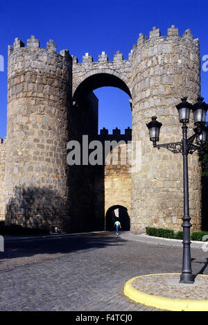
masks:
<svg viewBox="0 0 208 325"><path fill-rule="evenodd" d="M67 141L72 59L34 36L8 49L6 222L63 227L68 222Z"/></svg>

